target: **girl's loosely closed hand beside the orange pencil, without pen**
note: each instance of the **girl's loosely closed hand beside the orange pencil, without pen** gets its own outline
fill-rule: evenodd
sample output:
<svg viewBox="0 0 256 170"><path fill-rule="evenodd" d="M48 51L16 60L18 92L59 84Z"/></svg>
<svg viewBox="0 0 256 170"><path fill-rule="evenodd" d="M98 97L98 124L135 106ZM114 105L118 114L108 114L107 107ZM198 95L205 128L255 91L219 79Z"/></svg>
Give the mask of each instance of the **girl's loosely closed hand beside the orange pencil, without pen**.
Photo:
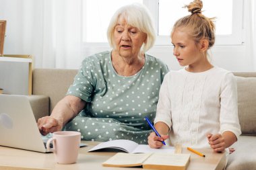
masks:
<svg viewBox="0 0 256 170"><path fill-rule="evenodd" d="M207 135L208 143L210 144L211 148L214 149L216 152L222 152L225 150L225 140L221 134L208 134Z"/></svg>

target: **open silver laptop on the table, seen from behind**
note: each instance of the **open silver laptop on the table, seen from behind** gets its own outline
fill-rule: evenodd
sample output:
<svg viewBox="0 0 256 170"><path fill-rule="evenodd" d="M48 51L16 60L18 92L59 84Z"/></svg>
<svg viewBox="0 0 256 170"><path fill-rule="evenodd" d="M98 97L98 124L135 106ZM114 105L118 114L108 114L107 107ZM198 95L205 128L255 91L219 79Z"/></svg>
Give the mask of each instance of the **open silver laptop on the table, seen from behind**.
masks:
<svg viewBox="0 0 256 170"><path fill-rule="evenodd" d="M0 95L0 145L48 153L28 97ZM81 144L84 146L84 144Z"/></svg>

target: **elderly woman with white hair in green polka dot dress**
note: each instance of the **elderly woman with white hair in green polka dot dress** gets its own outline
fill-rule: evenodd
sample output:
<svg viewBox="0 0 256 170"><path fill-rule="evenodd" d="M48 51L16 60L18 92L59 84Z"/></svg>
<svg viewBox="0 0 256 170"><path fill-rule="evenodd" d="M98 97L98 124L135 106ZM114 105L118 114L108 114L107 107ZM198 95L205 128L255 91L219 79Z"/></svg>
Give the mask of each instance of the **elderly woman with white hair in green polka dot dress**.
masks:
<svg viewBox="0 0 256 170"><path fill-rule="evenodd" d="M38 120L42 134L75 130L82 140L147 143L151 130L145 116L156 116L160 85L168 72L160 60L144 53L155 40L148 9L139 4L121 7L107 34L113 50L85 58L67 95L51 116Z"/></svg>

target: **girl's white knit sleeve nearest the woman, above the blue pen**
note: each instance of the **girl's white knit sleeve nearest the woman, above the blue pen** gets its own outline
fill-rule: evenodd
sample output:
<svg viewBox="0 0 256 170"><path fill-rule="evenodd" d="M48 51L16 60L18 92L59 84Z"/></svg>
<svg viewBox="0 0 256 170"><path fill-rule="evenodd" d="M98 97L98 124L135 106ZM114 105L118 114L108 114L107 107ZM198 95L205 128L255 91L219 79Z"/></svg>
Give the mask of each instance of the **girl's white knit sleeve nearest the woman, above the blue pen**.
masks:
<svg viewBox="0 0 256 170"><path fill-rule="evenodd" d="M172 126L171 121L171 101L170 101L170 73L167 73L164 77L164 81L160 87L159 100L156 108L156 122L164 122L170 129Z"/></svg>

